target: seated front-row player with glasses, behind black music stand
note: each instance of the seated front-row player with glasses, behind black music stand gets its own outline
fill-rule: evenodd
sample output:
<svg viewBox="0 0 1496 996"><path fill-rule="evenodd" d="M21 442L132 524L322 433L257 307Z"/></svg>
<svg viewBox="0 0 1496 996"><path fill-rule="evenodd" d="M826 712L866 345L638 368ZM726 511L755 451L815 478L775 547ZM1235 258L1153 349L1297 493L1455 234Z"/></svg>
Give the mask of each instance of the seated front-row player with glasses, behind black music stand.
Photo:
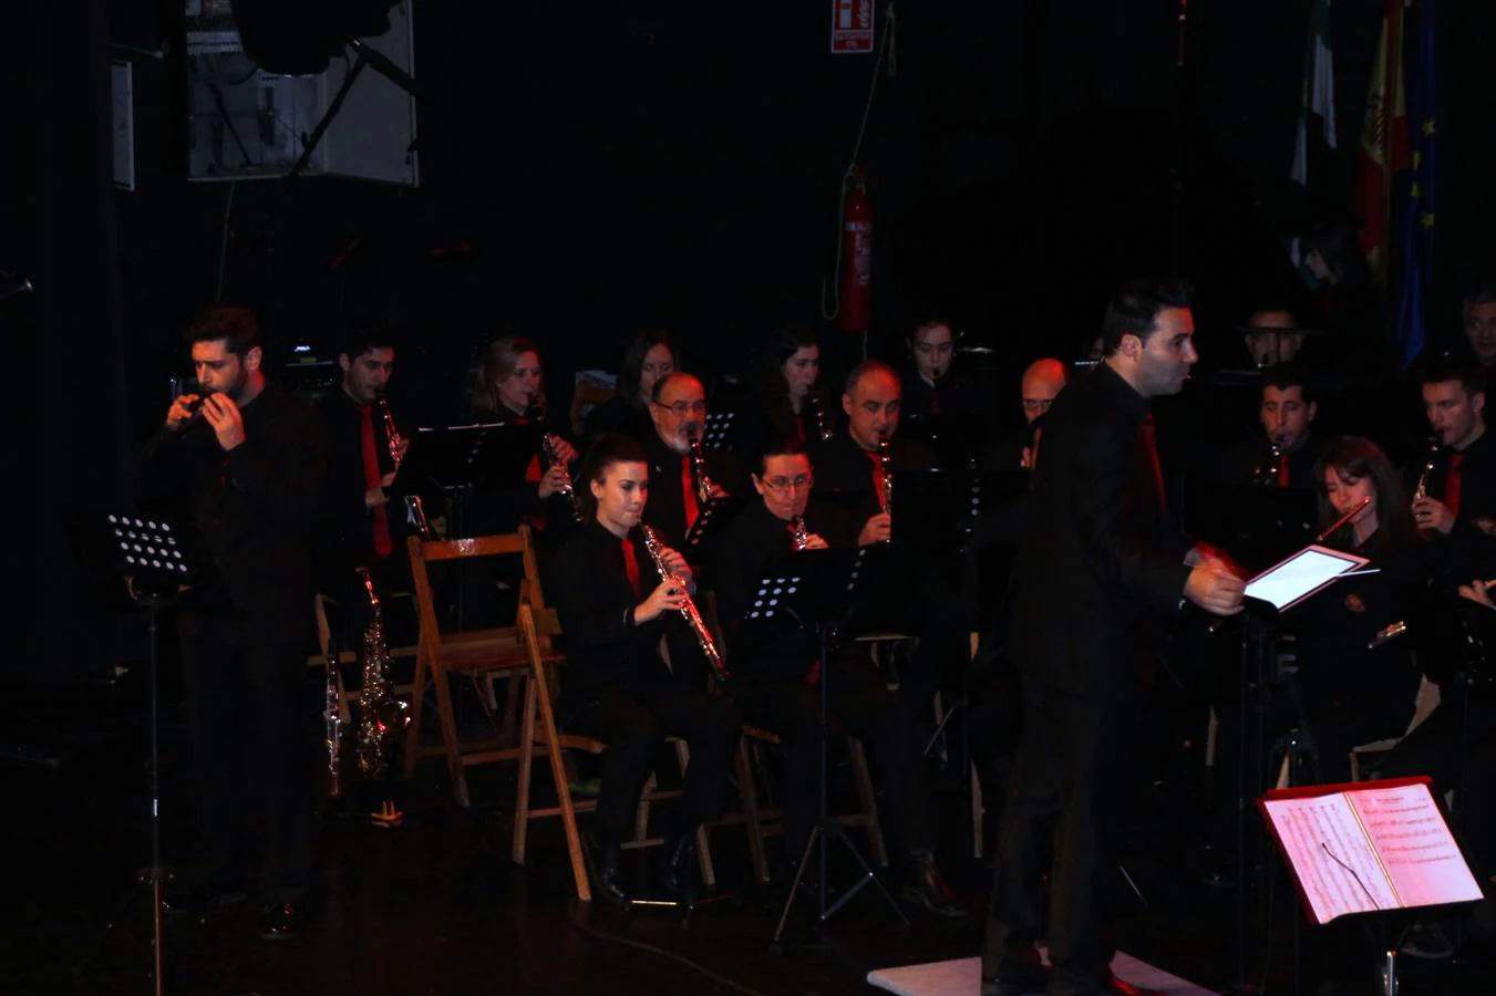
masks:
<svg viewBox="0 0 1496 996"><path fill-rule="evenodd" d="M720 618L732 634L733 698L748 722L784 740L784 839L794 863L817 815L820 639L814 628L791 619L744 624L742 616L770 556L823 549L823 534L845 532L833 507L809 501L811 485L811 461L799 441L770 444L752 476L758 499L733 522L717 577ZM860 739L875 755L874 770L886 797L883 812L910 855L904 896L942 917L963 915L935 864L920 749L908 713L865 654L838 651L827 667L829 724Z"/></svg>

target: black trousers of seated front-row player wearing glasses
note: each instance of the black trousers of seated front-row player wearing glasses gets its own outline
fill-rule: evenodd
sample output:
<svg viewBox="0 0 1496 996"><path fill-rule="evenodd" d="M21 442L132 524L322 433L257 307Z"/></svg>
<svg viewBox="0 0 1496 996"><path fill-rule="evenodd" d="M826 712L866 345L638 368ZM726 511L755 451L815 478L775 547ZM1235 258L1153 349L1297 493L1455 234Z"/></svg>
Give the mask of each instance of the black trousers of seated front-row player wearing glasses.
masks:
<svg viewBox="0 0 1496 996"><path fill-rule="evenodd" d="M827 704L832 728L863 742L887 806L884 814L910 851L935 846L920 784L920 751L908 712L868 660L833 657ZM803 680L744 676L733 698L747 721L784 740L785 852L799 857L820 802L821 691Z"/></svg>

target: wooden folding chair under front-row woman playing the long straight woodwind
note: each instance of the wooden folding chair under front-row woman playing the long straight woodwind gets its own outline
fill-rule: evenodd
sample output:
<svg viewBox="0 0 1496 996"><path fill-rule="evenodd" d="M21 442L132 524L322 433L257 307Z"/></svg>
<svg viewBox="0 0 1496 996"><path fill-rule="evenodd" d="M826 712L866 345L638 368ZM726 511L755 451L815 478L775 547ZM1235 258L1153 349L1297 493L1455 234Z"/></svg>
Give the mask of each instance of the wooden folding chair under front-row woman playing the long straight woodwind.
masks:
<svg viewBox="0 0 1496 996"><path fill-rule="evenodd" d="M551 670L560 667L564 658L548 654L546 646L561 634L561 622L554 609L536 607L530 601L519 604L519 633L524 642L525 655L530 663L525 682L525 701L522 710L522 725L519 733L519 779L515 788L515 834L510 857L515 864L525 863L530 823L549 817L560 817L565 833L567 854L571 860L571 878L576 882L576 896L582 902L592 900L591 882L586 878L586 863L582 858L582 836L577 831L576 817L580 812L597 809L595 800L574 800L571 797L571 772L568 770L565 751L585 751L588 754L603 754L607 745L594 737L574 733L562 733L557 725L555 683ZM672 737L676 758L681 769L690 763L685 742ZM534 806L531 803L531 775L537 757L546 758L551 764L551 781L555 782L557 805ZM664 843L663 837L648 836L649 809L652 802L678 797L678 790L661 791L655 787L654 776L645 787L639 799L639 815L633 840L624 842L624 849L657 846ZM708 839L708 829L703 826L696 831L696 854L702 869L702 881L708 885L717 884L717 872L712 864L712 851Z"/></svg>

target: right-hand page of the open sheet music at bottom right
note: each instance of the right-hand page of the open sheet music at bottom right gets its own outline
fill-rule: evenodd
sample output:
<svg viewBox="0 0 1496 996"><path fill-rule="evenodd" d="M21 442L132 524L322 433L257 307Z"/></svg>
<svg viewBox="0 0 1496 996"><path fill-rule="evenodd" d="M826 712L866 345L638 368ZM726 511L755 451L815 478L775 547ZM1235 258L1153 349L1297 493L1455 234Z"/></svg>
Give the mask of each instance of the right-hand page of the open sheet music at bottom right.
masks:
<svg viewBox="0 0 1496 996"><path fill-rule="evenodd" d="M1460 846L1427 784L1346 793L1403 906L1481 897Z"/></svg>

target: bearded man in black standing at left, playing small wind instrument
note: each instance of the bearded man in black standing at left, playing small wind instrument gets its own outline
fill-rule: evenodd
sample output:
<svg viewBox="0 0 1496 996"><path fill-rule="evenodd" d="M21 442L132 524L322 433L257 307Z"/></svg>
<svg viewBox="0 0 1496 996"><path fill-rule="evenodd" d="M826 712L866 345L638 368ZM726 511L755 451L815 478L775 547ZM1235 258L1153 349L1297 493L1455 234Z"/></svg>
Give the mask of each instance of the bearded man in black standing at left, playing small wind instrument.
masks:
<svg viewBox="0 0 1496 996"><path fill-rule="evenodd" d="M197 873L172 905L241 899L247 863L260 857L260 936L284 939L311 872L313 761L304 746L314 706L298 689L323 435L310 405L266 383L251 311L208 308L186 338L199 393L172 402L136 486L148 510L196 525L215 573L178 603L202 827ZM260 815L262 826L247 826Z"/></svg>

